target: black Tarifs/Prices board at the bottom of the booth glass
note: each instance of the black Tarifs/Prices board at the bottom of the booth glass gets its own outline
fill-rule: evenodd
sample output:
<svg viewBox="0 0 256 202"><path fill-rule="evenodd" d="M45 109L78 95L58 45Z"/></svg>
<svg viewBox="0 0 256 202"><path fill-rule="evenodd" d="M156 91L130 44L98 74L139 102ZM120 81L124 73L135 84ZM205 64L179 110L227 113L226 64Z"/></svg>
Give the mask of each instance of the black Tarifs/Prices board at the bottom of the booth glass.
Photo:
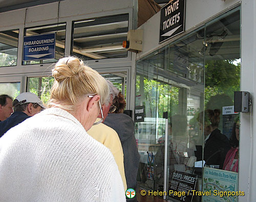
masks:
<svg viewBox="0 0 256 202"><path fill-rule="evenodd" d="M197 175L175 171L169 185L169 196L176 200L190 202L193 199L193 191L197 183ZM184 195L177 194L185 192Z"/></svg>

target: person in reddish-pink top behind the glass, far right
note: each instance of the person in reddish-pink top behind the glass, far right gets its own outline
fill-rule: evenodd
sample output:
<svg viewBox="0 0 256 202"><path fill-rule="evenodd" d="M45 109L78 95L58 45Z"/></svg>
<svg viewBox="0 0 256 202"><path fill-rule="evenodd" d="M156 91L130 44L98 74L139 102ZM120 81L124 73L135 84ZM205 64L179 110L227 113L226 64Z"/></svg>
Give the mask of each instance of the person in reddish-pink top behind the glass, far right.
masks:
<svg viewBox="0 0 256 202"><path fill-rule="evenodd" d="M239 120L234 122L232 135L230 137L231 149L227 152L226 159L223 164L224 170L238 172L239 165Z"/></svg>

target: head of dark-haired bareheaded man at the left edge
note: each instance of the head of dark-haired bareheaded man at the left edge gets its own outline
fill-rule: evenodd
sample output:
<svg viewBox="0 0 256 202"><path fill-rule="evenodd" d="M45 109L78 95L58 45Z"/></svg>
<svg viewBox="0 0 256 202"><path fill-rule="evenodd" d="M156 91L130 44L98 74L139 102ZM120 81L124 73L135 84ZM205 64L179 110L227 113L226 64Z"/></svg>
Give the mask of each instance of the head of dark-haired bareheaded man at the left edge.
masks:
<svg viewBox="0 0 256 202"><path fill-rule="evenodd" d="M9 95L0 95L0 122L11 116L12 98Z"/></svg>

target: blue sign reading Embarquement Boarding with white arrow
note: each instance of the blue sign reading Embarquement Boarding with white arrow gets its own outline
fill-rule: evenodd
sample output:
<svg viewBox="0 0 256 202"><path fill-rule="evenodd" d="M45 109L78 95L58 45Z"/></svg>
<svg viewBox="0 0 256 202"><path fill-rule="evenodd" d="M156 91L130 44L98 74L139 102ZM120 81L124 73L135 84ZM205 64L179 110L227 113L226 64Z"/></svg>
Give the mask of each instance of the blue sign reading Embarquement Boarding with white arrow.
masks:
<svg viewBox="0 0 256 202"><path fill-rule="evenodd" d="M55 33L24 36L23 61L54 58Z"/></svg>

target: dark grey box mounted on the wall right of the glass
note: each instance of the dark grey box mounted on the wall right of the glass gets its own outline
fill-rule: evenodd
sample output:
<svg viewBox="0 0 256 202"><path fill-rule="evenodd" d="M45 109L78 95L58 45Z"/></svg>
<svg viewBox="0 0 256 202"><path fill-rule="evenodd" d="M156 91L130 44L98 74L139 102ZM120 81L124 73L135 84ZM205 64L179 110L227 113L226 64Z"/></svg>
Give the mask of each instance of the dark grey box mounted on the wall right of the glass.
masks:
<svg viewBox="0 0 256 202"><path fill-rule="evenodd" d="M249 112L250 93L234 91L234 112Z"/></svg>

